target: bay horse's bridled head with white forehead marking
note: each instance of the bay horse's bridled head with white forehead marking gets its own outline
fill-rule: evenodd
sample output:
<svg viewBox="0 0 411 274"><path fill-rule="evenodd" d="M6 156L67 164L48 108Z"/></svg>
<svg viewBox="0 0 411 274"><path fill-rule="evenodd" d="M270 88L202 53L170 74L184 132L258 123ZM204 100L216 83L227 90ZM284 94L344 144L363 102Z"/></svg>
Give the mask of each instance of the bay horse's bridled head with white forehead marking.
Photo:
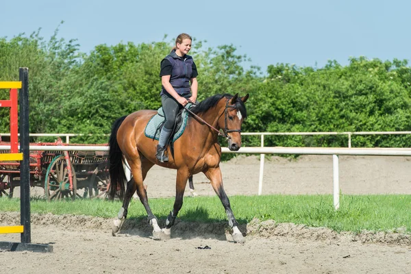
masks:
<svg viewBox="0 0 411 274"><path fill-rule="evenodd" d="M223 129L225 138L228 139L228 149L238 151L241 147L241 125L247 118L247 110L244 103L249 95L238 97L238 94L225 101L225 109L223 115L219 119L219 127Z"/></svg>

